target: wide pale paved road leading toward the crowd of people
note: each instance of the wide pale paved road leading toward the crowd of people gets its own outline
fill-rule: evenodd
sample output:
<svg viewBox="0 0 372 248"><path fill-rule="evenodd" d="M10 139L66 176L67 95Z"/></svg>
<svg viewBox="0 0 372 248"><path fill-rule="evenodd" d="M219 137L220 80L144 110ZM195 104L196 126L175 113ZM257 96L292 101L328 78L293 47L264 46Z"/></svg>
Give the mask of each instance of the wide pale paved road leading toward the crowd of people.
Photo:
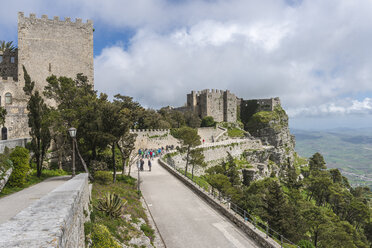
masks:
<svg viewBox="0 0 372 248"><path fill-rule="evenodd" d="M258 247L157 161L151 172L140 176L143 196L167 247Z"/></svg>

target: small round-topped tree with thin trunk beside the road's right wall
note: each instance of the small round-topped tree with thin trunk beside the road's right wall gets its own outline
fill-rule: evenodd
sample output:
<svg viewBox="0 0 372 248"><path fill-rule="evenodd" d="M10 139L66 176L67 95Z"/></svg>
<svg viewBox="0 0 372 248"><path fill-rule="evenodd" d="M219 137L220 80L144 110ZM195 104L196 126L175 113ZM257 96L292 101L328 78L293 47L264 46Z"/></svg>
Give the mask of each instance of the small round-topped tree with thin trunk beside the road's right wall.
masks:
<svg viewBox="0 0 372 248"><path fill-rule="evenodd" d="M191 127L181 127L173 132L173 135L181 142L181 150L186 151L185 176L187 176L187 168L190 162L190 152L194 147L201 144L200 136L198 135L198 131Z"/></svg>

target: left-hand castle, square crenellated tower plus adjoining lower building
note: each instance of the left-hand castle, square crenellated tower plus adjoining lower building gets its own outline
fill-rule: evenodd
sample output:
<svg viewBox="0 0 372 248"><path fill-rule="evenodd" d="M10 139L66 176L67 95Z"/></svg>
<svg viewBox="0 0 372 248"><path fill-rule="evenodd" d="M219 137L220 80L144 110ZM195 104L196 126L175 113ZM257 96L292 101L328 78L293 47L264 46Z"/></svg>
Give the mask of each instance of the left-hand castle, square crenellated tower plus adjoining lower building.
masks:
<svg viewBox="0 0 372 248"><path fill-rule="evenodd" d="M0 51L0 106L7 110L2 139L29 136L22 66L40 92L51 75L75 78L83 73L93 84L93 22L18 13L18 48Z"/></svg>

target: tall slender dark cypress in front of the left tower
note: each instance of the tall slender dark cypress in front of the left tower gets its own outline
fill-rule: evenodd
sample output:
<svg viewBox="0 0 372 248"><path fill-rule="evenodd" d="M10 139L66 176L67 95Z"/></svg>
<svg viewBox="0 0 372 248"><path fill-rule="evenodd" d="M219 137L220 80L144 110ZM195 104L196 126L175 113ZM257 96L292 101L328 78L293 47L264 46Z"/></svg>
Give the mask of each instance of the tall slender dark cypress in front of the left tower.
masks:
<svg viewBox="0 0 372 248"><path fill-rule="evenodd" d="M30 148L34 153L36 160L37 177L40 177L43 162L51 141L51 134L49 130L50 109L44 103L44 99L40 95L39 91L33 91L35 82L31 81L31 77L27 73L24 66L23 73L25 79L25 87L23 90L29 97L27 103L27 117L28 126L30 127L30 136L32 138Z"/></svg>

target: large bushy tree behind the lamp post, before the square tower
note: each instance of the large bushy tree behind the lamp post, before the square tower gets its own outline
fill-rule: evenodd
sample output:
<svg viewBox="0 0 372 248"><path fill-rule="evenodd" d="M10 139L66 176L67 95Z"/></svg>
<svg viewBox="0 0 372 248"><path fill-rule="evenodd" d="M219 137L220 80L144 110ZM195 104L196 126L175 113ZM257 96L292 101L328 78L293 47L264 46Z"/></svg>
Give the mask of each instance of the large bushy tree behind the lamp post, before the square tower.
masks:
<svg viewBox="0 0 372 248"><path fill-rule="evenodd" d="M52 75L47 82L44 95L57 104L57 108L52 110L53 135L59 141L56 144L62 146L69 143L68 129L76 127L79 147L90 160L95 160L97 149L107 146L101 118L106 99L97 98L93 86L82 74L77 74L75 80ZM57 147L58 150L61 148Z"/></svg>

